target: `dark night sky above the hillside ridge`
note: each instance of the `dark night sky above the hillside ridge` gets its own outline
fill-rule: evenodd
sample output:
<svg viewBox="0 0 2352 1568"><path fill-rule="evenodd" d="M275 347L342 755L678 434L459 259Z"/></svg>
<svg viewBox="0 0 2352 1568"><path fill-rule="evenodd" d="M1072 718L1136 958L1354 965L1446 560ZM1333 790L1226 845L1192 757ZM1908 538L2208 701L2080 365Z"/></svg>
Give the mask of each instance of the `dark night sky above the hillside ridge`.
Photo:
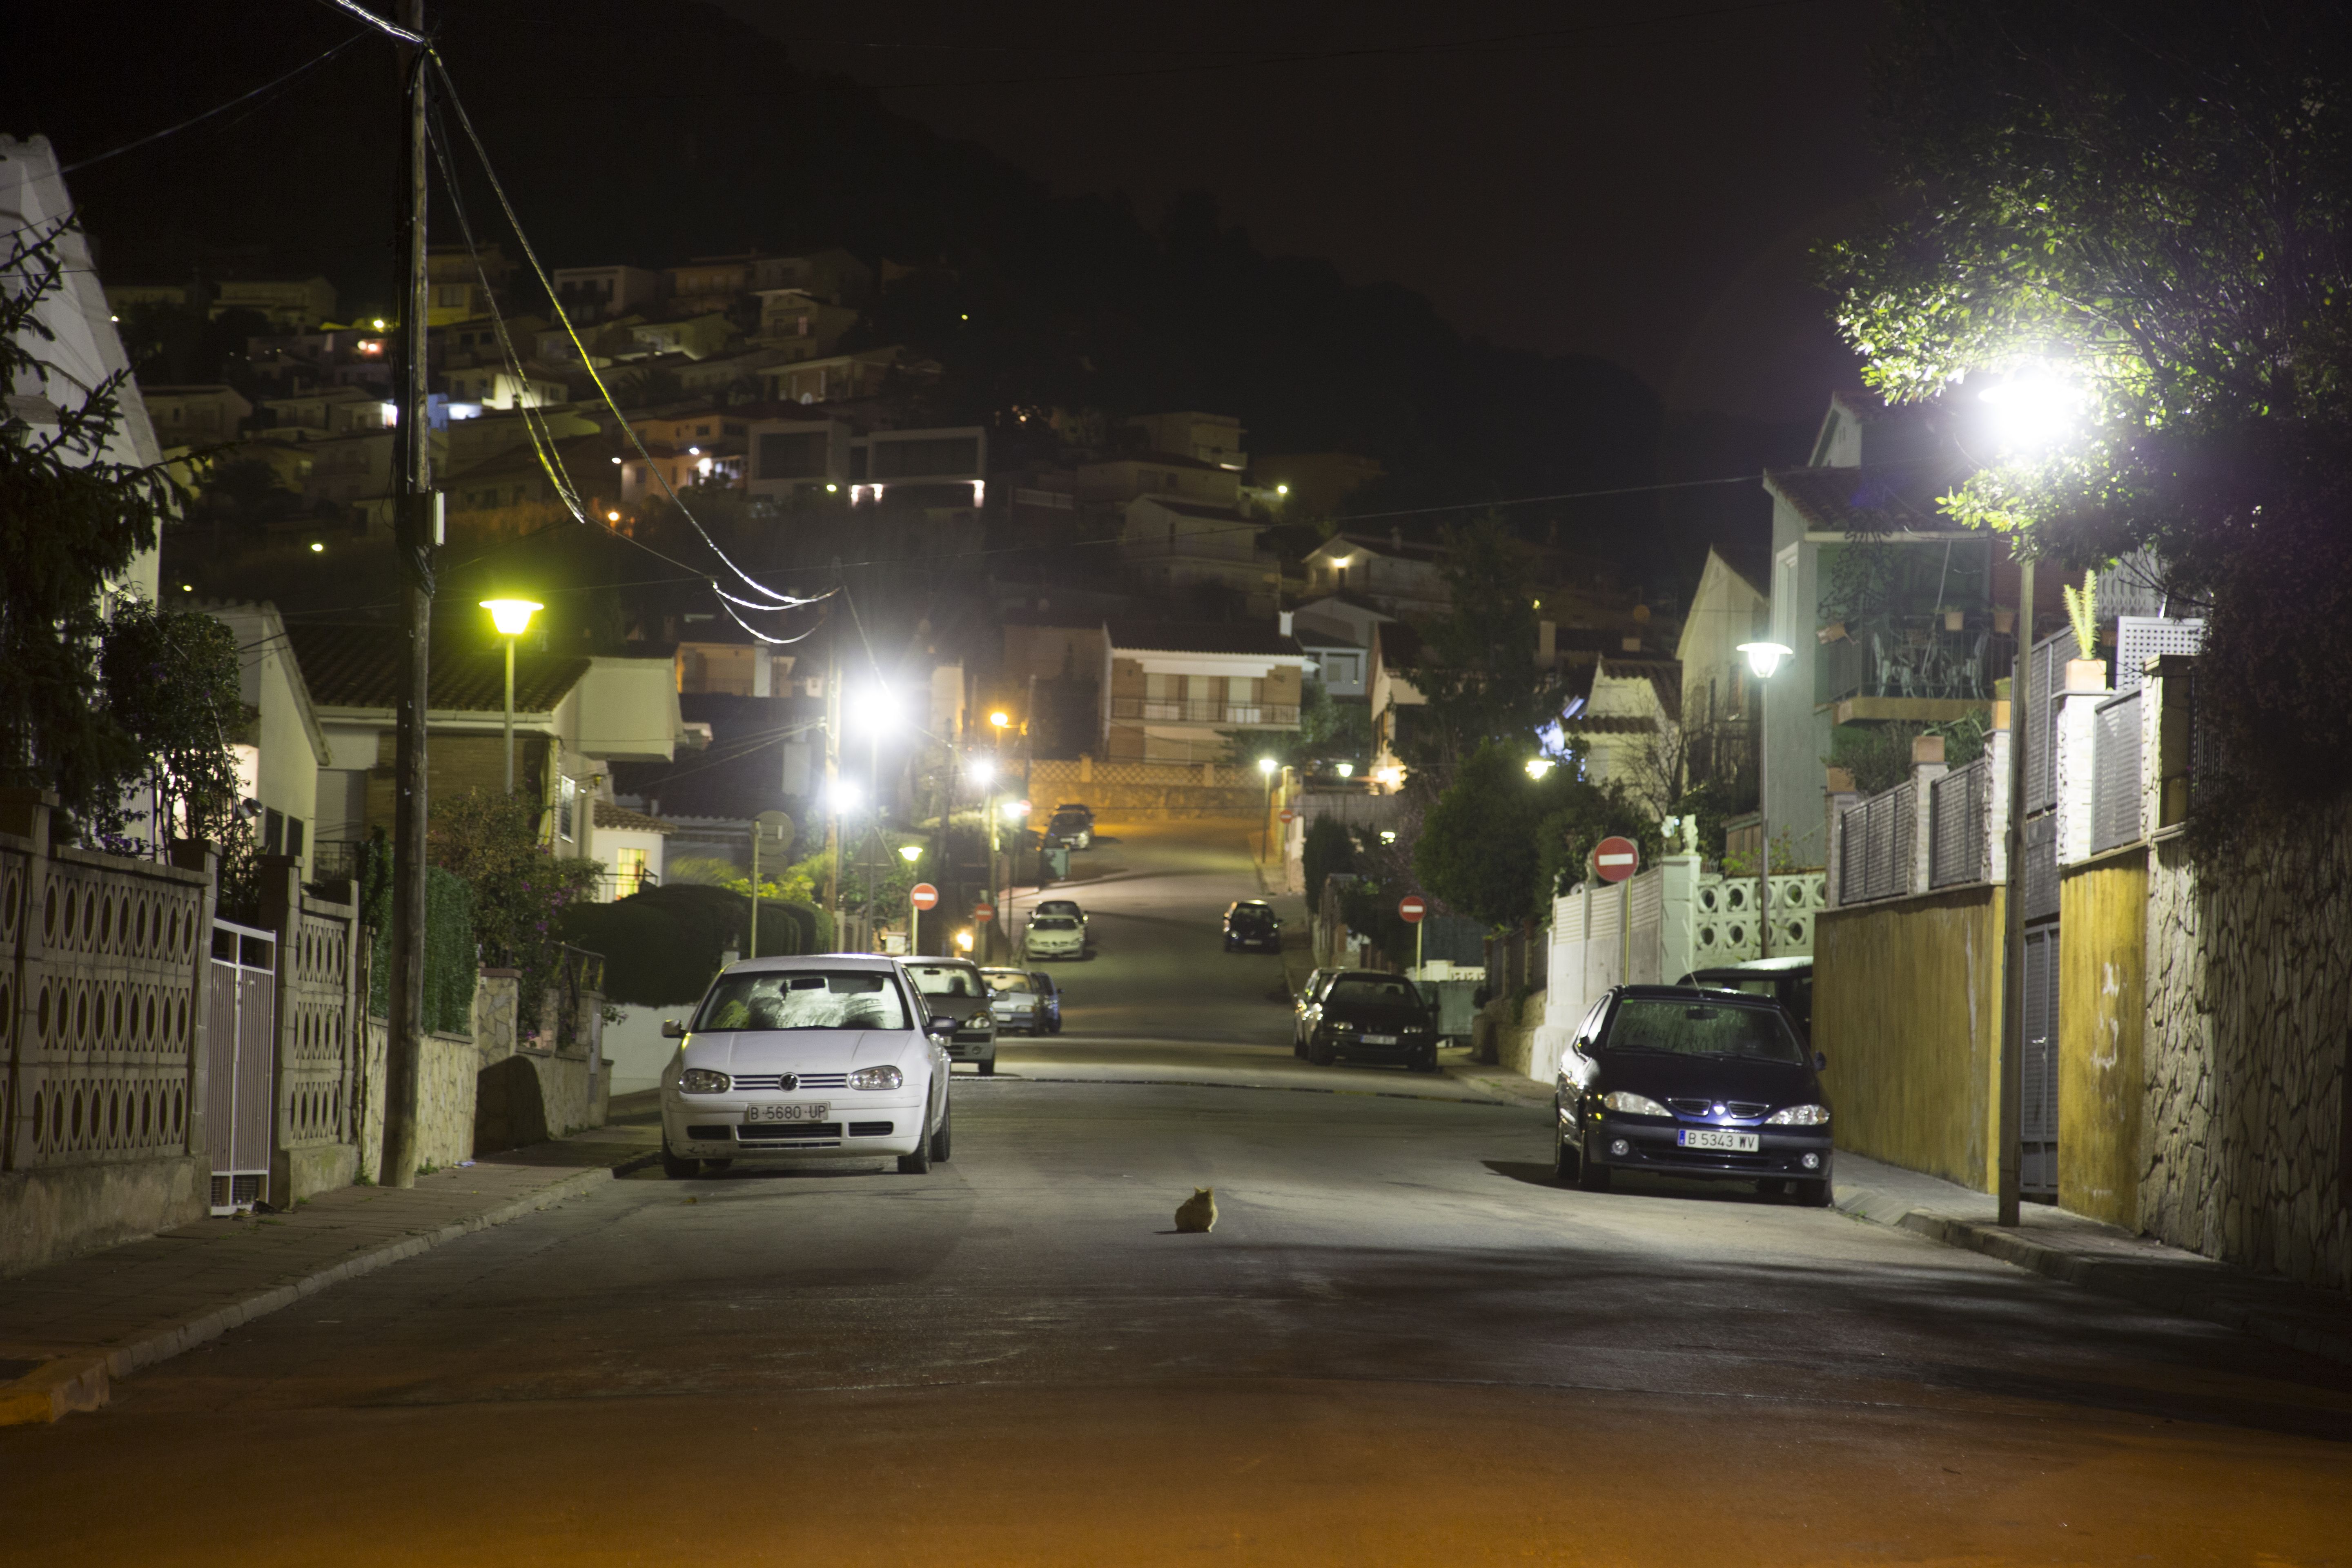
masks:
<svg viewBox="0 0 2352 1568"><path fill-rule="evenodd" d="M1670 407L1809 418L1856 381L1806 247L1875 188L1870 5L722 5L1056 190L1145 219L1207 190L1270 252Z"/></svg>

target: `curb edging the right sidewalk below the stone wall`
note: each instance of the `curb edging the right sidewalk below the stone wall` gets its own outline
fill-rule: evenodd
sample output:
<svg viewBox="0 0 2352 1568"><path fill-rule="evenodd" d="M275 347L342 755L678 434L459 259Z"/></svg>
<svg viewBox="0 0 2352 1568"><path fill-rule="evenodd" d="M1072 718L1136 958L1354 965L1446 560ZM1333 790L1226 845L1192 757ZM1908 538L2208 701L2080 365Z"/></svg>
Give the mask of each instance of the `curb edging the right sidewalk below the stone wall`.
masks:
<svg viewBox="0 0 2352 1568"><path fill-rule="evenodd" d="M2192 1274L2201 1272L2197 1262L2136 1265L2086 1258L2084 1253L2049 1246L1999 1225L1980 1225L1931 1208L1910 1208L1896 1218L1877 1218L1867 1213L1865 1204L1867 1192L1856 1192L1842 1197L1837 1208L1856 1220L1907 1229L1943 1246L1983 1253L2030 1274L2091 1291L2093 1295L2234 1328L2256 1340L2286 1345L2288 1349L2300 1349L2326 1361L2352 1363L2352 1326L2338 1326L2345 1316L2340 1309L2303 1314L2291 1307L2265 1307L2258 1300L2265 1293L2281 1288L2300 1291L2300 1286L2267 1286L2265 1281L2239 1276L2218 1262L2204 1265L2218 1274L2204 1281L2192 1279ZM2173 1279L2161 1279L2159 1274L2173 1274Z"/></svg>

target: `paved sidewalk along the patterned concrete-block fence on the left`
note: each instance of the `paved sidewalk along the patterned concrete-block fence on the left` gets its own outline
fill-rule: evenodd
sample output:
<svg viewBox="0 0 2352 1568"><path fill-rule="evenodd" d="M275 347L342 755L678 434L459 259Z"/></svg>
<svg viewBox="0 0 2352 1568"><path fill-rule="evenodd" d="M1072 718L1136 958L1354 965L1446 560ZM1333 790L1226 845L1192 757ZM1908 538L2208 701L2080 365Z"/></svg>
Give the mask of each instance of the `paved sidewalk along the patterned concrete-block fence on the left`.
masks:
<svg viewBox="0 0 2352 1568"><path fill-rule="evenodd" d="M106 1403L108 1380L339 1279L520 1220L659 1159L659 1126L602 1126L292 1213L198 1220L0 1279L0 1427Z"/></svg>

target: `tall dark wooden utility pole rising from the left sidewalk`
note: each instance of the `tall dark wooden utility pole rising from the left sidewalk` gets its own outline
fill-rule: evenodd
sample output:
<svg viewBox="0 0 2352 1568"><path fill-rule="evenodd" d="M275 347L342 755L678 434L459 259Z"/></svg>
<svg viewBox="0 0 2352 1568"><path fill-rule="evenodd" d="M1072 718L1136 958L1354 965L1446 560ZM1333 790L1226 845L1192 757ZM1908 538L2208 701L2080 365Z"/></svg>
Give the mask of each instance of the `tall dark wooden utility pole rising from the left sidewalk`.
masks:
<svg viewBox="0 0 2352 1568"><path fill-rule="evenodd" d="M400 26L423 35L423 0L400 0ZM416 1185L419 1063L426 1011L426 705L433 684L433 440L426 430L426 82L423 45L400 47L407 134L400 143L400 348L393 435L397 484L393 529L400 555L400 696L393 745L393 952L383 1051L386 1187Z"/></svg>

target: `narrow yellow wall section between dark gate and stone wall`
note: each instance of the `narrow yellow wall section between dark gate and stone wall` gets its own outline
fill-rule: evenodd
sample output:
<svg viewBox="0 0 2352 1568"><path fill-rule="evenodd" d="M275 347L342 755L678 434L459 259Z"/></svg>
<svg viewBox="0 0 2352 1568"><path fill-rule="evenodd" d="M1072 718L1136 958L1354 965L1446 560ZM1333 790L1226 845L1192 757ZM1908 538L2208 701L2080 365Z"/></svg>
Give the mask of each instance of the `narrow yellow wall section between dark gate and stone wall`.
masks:
<svg viewBox="0 0 2352 1568"><path fill-rule="evenodd" d="M2140 1225L2147 849L2058 884L2058 1206Z"/></svg>

